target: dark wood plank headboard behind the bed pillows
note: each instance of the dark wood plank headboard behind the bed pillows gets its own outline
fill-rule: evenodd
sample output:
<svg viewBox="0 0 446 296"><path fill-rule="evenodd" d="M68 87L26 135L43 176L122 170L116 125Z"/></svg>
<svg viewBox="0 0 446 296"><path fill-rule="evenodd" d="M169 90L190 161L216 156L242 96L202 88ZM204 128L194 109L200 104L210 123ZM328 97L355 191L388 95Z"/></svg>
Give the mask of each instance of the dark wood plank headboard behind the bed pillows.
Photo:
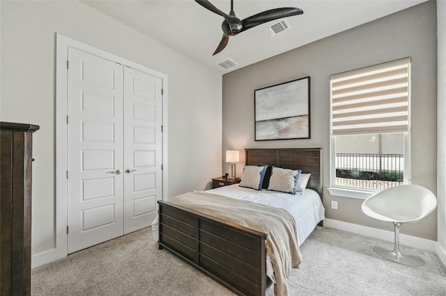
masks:
<svg viewBox="0 0 446 296"><path fill-rule="evenodd" d="M307 188L322 198L322 148L245 149L245 165L269 165L312 174Z"/></svg>

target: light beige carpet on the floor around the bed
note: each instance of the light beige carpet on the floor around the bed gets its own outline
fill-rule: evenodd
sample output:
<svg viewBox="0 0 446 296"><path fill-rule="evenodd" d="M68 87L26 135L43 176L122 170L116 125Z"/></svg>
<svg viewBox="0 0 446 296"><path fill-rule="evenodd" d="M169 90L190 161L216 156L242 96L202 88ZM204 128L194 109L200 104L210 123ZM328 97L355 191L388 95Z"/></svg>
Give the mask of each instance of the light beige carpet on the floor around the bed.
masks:
<svg viewBox="0 0 446 296"><path fill-rule="evenodd" d="M416 249L426 265L410 267L376 254L377 242L384 241L316 227L301 246L303 261L289 277L289 294L446 295L446 267L435 253ZM149 227L33 269L31 295L234 294L158 250Z"/></svg>

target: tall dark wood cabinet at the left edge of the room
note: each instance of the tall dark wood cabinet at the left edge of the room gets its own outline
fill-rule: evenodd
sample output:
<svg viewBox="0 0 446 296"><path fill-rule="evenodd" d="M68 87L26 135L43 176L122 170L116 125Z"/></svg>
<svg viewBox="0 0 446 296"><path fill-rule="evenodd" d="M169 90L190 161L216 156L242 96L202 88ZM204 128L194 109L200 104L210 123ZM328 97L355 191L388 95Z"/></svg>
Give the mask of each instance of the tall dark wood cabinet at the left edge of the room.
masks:
<svg viewBox="0 0 446 296"><path fill-rule="evenodd" d="M0 122L0 295L31 295L33 132L39 126Z"/></svg>

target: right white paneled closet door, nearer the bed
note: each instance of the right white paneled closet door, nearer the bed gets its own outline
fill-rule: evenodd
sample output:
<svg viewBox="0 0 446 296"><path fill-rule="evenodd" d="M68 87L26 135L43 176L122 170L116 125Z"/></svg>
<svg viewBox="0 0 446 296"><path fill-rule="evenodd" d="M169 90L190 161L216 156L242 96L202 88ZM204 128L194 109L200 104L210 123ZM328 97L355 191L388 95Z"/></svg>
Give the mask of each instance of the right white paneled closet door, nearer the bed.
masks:
<svg viewBox="0 0 446 296"><path fill-rule="evenodd" d="M124 233L151 225L162 199L162 79L124 68Z"/></svg>

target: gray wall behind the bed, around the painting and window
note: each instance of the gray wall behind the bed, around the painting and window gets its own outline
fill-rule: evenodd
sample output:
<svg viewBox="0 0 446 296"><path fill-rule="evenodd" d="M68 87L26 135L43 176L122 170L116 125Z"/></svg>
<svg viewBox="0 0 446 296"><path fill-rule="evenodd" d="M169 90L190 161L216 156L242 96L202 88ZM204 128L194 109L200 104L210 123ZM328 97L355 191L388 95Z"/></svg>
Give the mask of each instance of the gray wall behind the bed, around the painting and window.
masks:
<svg viewBox="0 0 446 296"><path fill-rule="evenodd" d="M365 216L362 199L332 197L330 186L331 74L412 57L410 165L412 183L436 192L436 2L429 1L394 15L332 35L223 76L223 151L260 147L322 147L323 203L326 217L392 231L390 223ZM254 140L254 90L311 76L309 140ZM243 154L242 154L243 155ZM240 159L237 171L242 172ZM224 163L224 172L229 165ZM330 208L337 200L338 210ZM401 233L436 240L436 212L408 224Z"/></svg>

